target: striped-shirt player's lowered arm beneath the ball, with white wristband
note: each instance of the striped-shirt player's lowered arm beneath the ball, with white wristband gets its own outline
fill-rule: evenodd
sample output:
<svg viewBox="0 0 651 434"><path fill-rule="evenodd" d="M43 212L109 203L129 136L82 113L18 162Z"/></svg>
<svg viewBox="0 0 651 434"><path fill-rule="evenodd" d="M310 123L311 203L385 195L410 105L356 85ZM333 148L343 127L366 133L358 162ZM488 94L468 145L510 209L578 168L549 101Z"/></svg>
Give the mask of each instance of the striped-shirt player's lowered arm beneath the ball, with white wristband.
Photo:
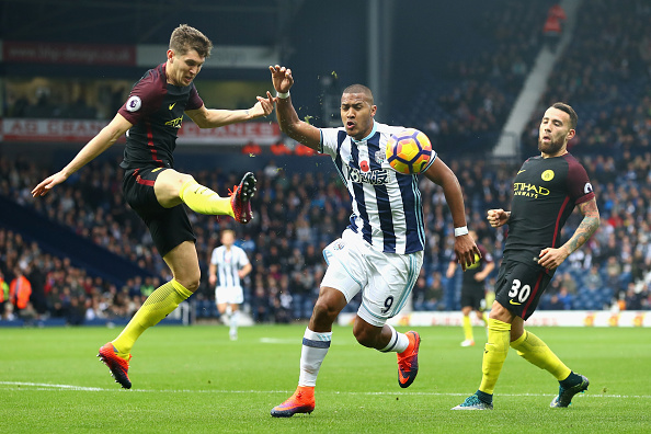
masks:
<svg viewBox="0 0 651 434"><path fill-rule="evenodd" d="M443 187L445 201L453 215L455 228L466 226L464 193L461 192L461 185L459 184L457 175L455 175L439 158L436 158L425 172L425 176ZM455 237L455 254L464 271L466 271L467 266L470 266L476 262L476 258L481 258L479 248L475 243L472 237L468 233Z"/></svg>

